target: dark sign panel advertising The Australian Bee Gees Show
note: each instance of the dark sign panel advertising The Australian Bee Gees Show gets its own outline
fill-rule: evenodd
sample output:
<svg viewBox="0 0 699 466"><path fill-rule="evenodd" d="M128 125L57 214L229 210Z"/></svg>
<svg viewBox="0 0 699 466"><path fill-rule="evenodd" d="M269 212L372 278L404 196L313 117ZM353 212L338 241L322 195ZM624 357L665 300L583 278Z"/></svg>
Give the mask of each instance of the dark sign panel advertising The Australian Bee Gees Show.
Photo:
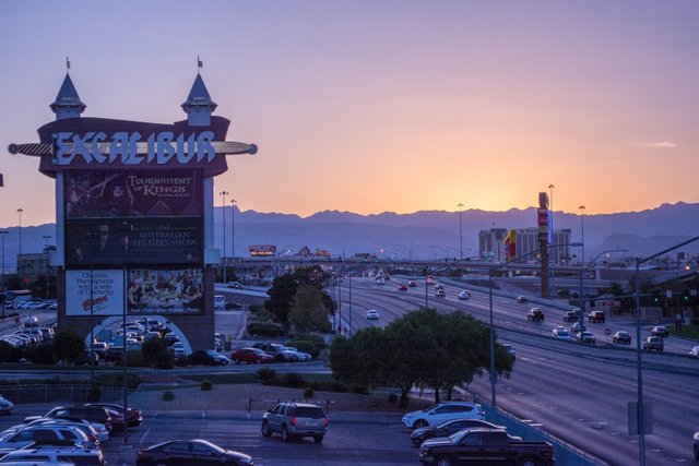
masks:
<svg viewBox="0 0 699 466"><path fill-rule="evenodd" d="M66 220L66 265L202 264L201 217Z"/></svg>

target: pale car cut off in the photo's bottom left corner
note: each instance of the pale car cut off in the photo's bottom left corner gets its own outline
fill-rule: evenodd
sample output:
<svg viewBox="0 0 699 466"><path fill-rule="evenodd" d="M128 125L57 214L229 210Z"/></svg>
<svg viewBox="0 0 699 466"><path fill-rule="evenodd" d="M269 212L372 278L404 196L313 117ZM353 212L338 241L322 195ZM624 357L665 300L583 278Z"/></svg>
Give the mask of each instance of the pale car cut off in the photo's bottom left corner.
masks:
<svg viewBox="0 0 699 466"><path fill-rule="evenodd" d="M8 465L81 465L105 466L105 455L99 449L84 449L72 442L36 442L32 446L9 452L1 464Z"/></svg>

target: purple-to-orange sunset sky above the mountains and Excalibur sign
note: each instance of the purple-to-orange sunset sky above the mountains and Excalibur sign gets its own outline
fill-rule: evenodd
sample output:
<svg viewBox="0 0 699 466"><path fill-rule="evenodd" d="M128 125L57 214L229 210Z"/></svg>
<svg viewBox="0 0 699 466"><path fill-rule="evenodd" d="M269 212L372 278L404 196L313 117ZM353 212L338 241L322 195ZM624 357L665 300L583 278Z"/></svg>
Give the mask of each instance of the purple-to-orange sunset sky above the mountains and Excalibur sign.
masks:
<svg viewBox="0 0 699 466"><path fill-rule="evenodd" d="M0 227L55 222L37 142L66 74L83 117L233 120L241 210L601 214L699 202L699 1L0 2ZM216 205L221 199L216 196Z"/></svg>

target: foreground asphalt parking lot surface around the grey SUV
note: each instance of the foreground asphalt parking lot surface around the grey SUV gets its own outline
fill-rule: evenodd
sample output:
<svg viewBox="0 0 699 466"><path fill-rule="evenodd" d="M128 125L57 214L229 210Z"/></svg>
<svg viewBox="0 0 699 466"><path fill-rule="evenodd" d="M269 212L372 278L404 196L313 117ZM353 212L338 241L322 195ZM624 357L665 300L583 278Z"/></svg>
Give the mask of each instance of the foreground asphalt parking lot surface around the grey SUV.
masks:
<svg viewBox="0 0 699 466"><path fill-rule="evenodd" d="M49 405L20 405L11 416L0 418L0 429L20 423L25 416L43 415ZM206 439L225 449L246 453L256 465L389 465L418 464L417 449L400 415L330 414L323 443L312 439L282 442L279 435L260 433L262 413L245 411L144 411L140 428L123 437L114 435L103 444L108 465L132 465L135 452L158 442L176 439ZM122 462L122 450L126 463Z"/></svg>

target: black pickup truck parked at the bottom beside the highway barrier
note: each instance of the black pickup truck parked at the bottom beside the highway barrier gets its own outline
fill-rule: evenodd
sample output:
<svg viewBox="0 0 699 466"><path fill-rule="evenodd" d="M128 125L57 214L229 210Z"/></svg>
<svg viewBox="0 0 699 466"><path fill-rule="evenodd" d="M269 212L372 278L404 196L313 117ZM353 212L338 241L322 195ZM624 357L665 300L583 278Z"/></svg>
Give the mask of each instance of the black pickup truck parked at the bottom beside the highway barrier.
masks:
<svg viewBox="0 0 699 466"><path fill-rule="evenodd" d="M498 464L550 466L554 446L548 442L517 442L502 429L464 429L451 437L423 442L419 461L428 465Z"/></svg>

